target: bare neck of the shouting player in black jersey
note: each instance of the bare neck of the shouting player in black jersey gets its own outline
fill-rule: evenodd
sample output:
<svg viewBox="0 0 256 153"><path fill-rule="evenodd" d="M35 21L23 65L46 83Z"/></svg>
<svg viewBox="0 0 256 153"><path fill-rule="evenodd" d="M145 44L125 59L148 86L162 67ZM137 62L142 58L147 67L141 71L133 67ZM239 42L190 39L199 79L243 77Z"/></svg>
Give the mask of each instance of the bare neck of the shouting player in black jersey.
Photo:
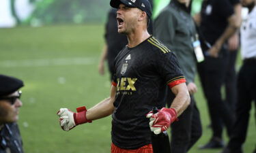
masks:
<svg viewBox="0 0 256 153"><path fill-rule="evenodd" d="M128 37L128 47L133 48L141 44L145 39L150 37L150 34L145 30L137 30L127 35Z"/></svg>

